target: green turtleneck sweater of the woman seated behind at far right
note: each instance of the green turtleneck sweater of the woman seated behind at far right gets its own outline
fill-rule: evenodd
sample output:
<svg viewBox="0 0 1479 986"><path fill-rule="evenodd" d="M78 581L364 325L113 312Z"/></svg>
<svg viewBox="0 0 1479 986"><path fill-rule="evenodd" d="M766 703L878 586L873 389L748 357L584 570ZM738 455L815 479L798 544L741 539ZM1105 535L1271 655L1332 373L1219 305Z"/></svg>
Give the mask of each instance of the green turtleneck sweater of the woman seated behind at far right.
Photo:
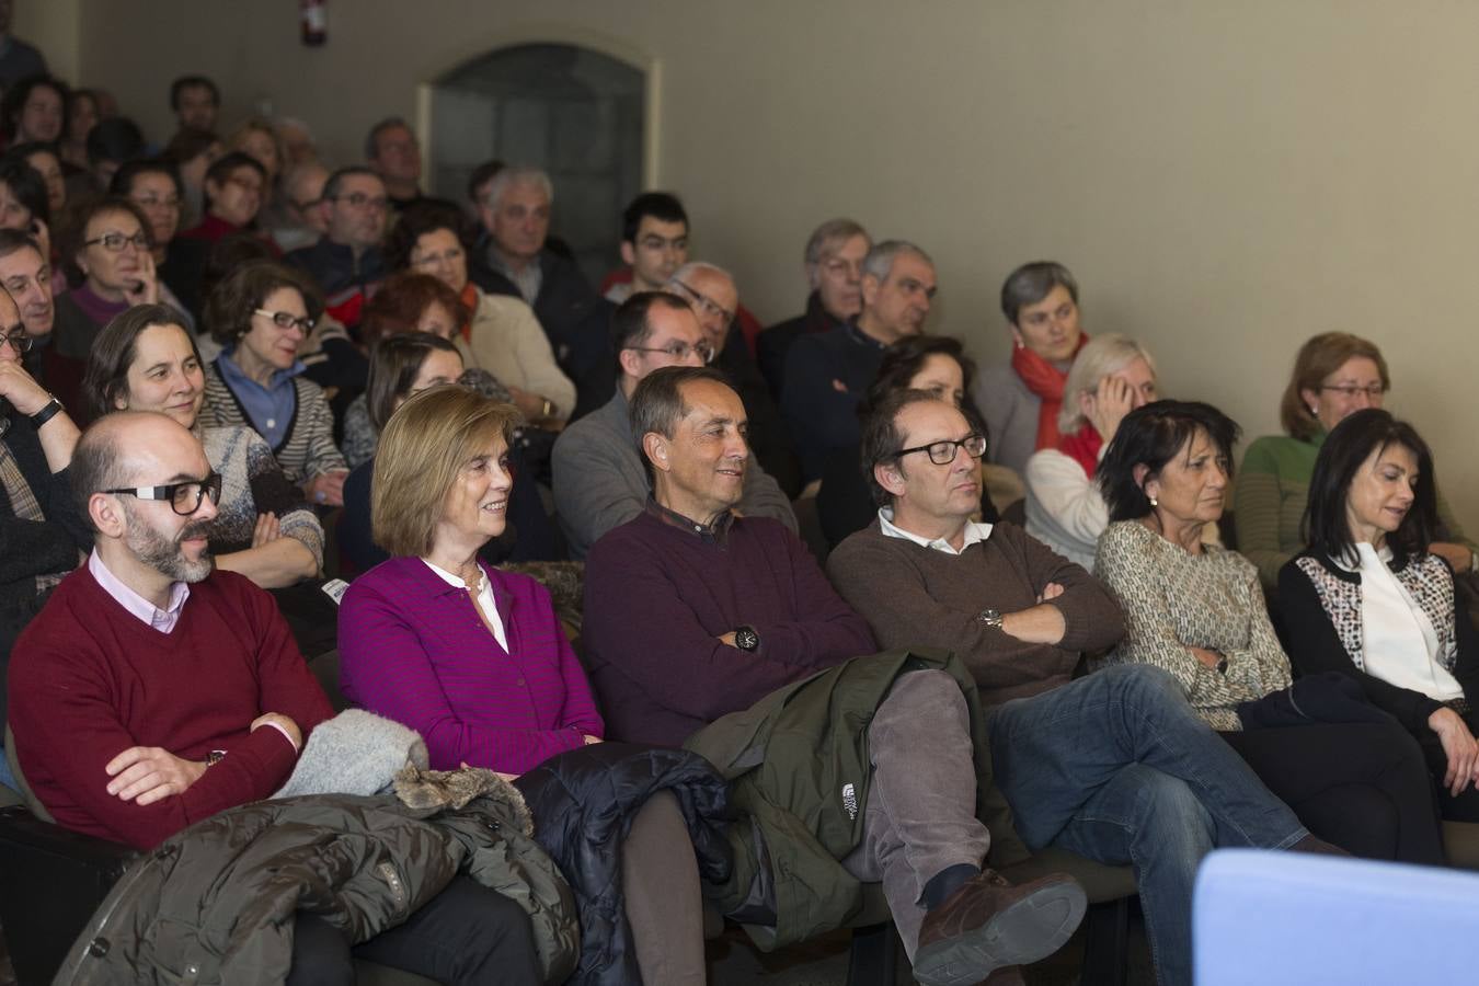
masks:
<svg viewBox="0 0 1479 986"><path fill-rule="evenodd" d="M1248 446L1238 469L1233 494L1238 550L1257 566L1259 579L1270 591L1279 584L1279 569L1304 548L1300 522L1324 443L1324 432L1307 442L1266 435ZM1458 526L1442 491L1438 491L1438 522L1442 540L1464 544L1470 551L1479 548Z"/></svg>

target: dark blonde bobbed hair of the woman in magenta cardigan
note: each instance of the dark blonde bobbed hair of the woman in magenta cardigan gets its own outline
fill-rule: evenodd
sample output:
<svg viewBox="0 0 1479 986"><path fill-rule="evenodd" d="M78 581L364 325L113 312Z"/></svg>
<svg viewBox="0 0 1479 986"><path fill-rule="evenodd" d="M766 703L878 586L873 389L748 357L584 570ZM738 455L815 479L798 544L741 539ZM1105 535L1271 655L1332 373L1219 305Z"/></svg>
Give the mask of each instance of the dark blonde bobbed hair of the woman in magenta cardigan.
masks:
<svg viewBox="0 0 1479 986"><path fill-rule="evenodd" d="M386 423L374 457L374 543L390 554L429 554L457 473L494 438L507 445L519 421L512 404L454 383L402 404Z"/></svg>

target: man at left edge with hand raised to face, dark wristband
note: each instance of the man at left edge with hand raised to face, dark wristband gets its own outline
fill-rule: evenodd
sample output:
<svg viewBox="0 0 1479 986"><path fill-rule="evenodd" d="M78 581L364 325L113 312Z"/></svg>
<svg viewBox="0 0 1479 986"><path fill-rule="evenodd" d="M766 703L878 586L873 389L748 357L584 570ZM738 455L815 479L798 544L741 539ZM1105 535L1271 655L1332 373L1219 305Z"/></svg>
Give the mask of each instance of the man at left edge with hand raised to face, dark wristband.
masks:
<svg viewBox="0 0 1479 986"><path fill-rule="evenodd" d="M77 426L21 365L31 343L0 291L0 729L10 647L92 544L68 485Z"/></svg>

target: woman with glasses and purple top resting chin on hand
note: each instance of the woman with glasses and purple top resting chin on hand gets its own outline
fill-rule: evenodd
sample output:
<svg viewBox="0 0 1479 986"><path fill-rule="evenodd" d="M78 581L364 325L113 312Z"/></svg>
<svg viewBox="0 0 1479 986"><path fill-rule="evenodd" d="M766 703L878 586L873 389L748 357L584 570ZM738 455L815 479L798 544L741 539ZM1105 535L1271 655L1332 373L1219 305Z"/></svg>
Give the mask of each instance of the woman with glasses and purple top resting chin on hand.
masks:
<svg viewBox="0 0 1479 986"><path fill-rule="evenodd" d="M83 368L104 325L135 305L164 297L154 266L149 220L126 198L83 204L59 231L71 290L56 297L46 380L62 404L86 426Z"/></svg>

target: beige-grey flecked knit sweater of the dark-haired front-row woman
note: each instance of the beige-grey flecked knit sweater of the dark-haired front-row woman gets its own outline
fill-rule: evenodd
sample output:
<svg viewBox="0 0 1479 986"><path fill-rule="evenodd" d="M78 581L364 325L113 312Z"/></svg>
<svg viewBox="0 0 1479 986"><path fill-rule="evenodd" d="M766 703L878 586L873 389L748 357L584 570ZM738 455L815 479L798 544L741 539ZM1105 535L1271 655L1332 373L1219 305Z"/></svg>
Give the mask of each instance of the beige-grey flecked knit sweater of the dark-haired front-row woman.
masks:
<svg viewBox="0 0 1479 986"><path fill-rule="evenodd" d="M1239 702L1290 684L1290 661L1273 634L1259 574L1236 551L1204 545L1189 554L1139 520L1111 523L1099 538L1097 575L1120 599L1126 634L1108 661L1170 671L1213 729L1242 729ZM1226 674L1188 647L1217 650Z"/></svg>

